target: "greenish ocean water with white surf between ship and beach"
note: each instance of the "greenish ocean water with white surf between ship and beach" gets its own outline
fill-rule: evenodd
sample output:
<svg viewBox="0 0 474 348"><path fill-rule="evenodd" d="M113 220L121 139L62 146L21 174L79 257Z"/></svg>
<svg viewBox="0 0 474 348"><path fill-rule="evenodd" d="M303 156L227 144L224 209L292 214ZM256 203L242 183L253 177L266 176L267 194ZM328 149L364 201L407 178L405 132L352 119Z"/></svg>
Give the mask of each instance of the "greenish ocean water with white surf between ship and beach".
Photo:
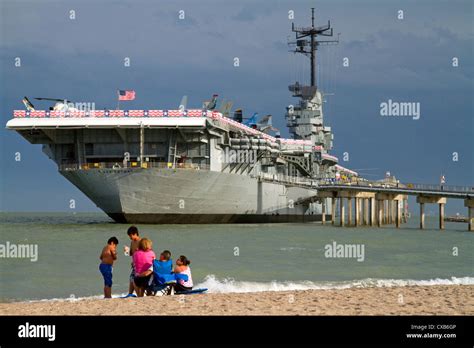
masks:
<svg viewBox="0 0 474 348"><path fill-rule="evenodd" d="M445 231L436 226L436 218L427 218L421 231L413 217L400 229L319 223L138 228L156 253L169 249L174 259L191 259L195 285L210 292L474 284L474 233L462 223L446 223ZM100 296L99 253L111 236L120 243L113 293L126 293L127 228L101 213L0 213L0 244L38 248L34 262L0 258L0 301ZM363 261L326 257L334 242L363 246Z"/></svg>

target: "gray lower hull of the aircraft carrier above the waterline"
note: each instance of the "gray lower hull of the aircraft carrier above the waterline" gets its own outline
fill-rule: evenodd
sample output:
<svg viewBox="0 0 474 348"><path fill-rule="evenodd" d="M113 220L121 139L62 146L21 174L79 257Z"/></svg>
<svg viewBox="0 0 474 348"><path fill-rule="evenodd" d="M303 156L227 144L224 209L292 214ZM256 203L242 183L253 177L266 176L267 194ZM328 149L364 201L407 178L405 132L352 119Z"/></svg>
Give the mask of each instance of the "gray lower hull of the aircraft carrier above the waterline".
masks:
<svg viewBox="0 0 474 348"><path fill-rule="evenodd" d="M248 175L189 169L89 169L60 173L122 223L261 223L321 220L315 190Z"/></svg>

